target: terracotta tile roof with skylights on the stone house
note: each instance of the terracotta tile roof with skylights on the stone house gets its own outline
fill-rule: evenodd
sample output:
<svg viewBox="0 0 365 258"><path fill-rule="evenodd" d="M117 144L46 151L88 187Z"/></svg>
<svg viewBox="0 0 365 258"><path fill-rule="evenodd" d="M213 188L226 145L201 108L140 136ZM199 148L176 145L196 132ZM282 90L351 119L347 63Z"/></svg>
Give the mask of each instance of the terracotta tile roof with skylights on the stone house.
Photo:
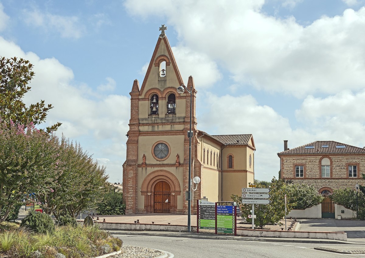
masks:
<svg viewBox="0 0 365 258"><path fill-rule="evenodd" d="M313 147L306 147L313 146ZM328 146L328 147L323 147ZM337 146L345 146L345 147L337 147ZM286 151L281 151L278 155L281 154L328 154L328 153L365 153L364 148L351 146L341 142L335 142L333 140L322 140L311 142L306 145L302 145L299 147L295 147L293 149L289 149Z"/></svg>

